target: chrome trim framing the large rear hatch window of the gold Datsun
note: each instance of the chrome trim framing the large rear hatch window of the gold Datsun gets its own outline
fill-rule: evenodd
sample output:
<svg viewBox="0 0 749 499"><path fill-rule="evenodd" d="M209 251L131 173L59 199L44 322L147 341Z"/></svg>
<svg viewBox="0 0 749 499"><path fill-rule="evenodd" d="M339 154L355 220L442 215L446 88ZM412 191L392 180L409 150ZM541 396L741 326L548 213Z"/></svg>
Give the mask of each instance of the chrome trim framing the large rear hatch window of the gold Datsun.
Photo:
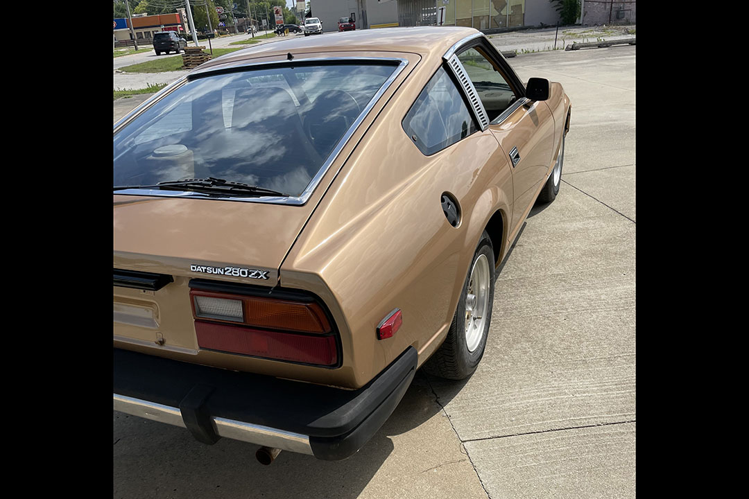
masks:
<svg viewBox="0 0 749 499"><path fill-rule="evenodd" d="M227 54L228 55L228 54ZM294 66L294 63L316 63L316 62L339 62L339 61L345 61L345 62L361 62L361 61L375 61L375 62L397 62L398 66L395 67L395 70L390 74L390 76L383 82L382 86L380 86L380 89L375 92L375 95L372 96L372 99L369 100L367 105L363 108L363 110L360 112L359 117L357 117L356 120L354 120L354 123L351 123L351 126L348 128L348 130L343 134L341 139L338 141L338 144L336 144L336 147L333 148L333 151L328 155L325 162L321 165L320 169L318 170L317 174L315 174L315 177L312 177L312 179L309 181L309 184L307 184L304 191L299 196L259 196L259 197L219 197L216 198L215 196L210 196L201 192L188 192L188 191L163 191L161 189L124 189L121 191L115 191L115 195L127 195L127 196L153 196L153 197L159 197L159 198L189 198L189 199L211 199L211 200L221 200L221 201L240 201L243 203L270 203L270 204L288 204L291 206L302 206L306 204L306 202L309 200L309 198L312 196L312 192L315 192L315 189L317 188L318 184L322 180L322 178L327 174L327 171L330 170L330 165L333 165L333 162L338 159L339 153L341 153L341 150L343 147L345 147L346 143L348 142L348 139L351 138L352 135L354 135L354 132L357 131L360 124L365 120L365 118L369 115L369 111L372 111L372 108L375 107L375 104L379 102L380 97L385 94L385 92L390 88L390 85L392 85L392 82L395 82L395 79L398 78L398 76L401 74L401 72L404 70L404 68L408 65L408 60L405 58L394 58L394 57L325 57L325 58L306 58L306 59L294 59L294 61L288 61L287 59L284 59L282 61L264 61L264 62L252 62L248 64L235 64L234 62L230 64L221 64L218 66L213 66L209 68L205 68L204 70L196 70L192 73L190 73L187 76L184 76L182 79L178 80L178 82L173 83L172 85L167 86L166 88L163 88L162 91L155 94L154 97L151 97L151 99L144 102L142 105L139 105L135 110L131 111L130 114L128 114L126 117L122 118L122 120L118 121L118 123L115 124L115 133L118 132L118 127L121 128L126 121L129 121L133 117L136 116L136 114L140 114L145 107L148 105L151 105L152 102L155 102L157 99L157 96L163 96L166 95L166 90L169 89L169 92L175 90L175 88L178 88L178 86L184 84L184 82L191 81L192 79L195 79L197 77L202 76L210 76L213 73L227 73L227 72L240 72L244 70L245 68L252 68L255 66L268 66L268 65L287 65L287 66ZM180 85L178 85L180 84ZM159 97L160 98L160 97Z"/></svg>

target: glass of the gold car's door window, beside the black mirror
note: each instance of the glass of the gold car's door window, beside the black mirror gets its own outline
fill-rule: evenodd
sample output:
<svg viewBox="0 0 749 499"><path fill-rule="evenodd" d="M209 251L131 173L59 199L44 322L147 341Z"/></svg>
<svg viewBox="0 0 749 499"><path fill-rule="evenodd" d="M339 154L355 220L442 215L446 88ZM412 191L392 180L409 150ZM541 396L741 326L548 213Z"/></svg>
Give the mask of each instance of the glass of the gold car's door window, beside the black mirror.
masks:
<svg viewBox="0 0 749 499"><path fill-rule="evenodd" d="M458 54L461 64L468 73L468 78L476 87L489 121L517 100L515 91L507 79L494 64L476 49L468 49Z"/></svg>

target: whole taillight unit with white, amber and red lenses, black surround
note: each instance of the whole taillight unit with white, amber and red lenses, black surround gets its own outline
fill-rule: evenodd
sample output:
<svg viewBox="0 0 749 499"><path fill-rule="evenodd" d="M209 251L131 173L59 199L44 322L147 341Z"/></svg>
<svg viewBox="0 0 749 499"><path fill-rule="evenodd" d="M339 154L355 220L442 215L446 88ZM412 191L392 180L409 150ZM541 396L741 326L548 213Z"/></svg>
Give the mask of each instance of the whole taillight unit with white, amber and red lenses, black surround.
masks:
<svg viewBox="0 0 749 499"><path fill-rule="evenodd" d="M330 314L314 296L237 284L200 289L190 281L201 349L338 367L340 345Z"/></svg>

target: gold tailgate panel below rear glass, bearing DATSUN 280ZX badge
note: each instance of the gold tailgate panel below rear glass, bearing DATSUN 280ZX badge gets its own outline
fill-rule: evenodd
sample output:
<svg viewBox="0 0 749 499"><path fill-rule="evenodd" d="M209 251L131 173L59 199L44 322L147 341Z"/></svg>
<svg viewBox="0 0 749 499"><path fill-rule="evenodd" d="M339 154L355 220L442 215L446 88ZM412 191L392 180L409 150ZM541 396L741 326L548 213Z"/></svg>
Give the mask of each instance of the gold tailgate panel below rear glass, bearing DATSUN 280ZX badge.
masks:
<svg viewBox="0 0 749 499"><path fill-rule="evenodd" d="M313 208L115 195L115 339L195 352L189 281L276 286Z"/></svg>

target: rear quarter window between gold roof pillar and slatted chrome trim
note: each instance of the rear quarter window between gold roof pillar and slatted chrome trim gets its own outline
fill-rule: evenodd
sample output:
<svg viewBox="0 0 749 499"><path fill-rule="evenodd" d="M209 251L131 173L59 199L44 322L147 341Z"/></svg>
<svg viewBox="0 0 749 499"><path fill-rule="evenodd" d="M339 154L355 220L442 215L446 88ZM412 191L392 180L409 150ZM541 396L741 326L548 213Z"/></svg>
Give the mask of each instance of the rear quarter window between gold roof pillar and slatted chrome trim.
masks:
<svg viewBox="0 0 749 499"><path fill-rule="evenodd" d="M476 123L443 67L426 84L403 119L403 129L426 156L476 132Z"/></svg>

